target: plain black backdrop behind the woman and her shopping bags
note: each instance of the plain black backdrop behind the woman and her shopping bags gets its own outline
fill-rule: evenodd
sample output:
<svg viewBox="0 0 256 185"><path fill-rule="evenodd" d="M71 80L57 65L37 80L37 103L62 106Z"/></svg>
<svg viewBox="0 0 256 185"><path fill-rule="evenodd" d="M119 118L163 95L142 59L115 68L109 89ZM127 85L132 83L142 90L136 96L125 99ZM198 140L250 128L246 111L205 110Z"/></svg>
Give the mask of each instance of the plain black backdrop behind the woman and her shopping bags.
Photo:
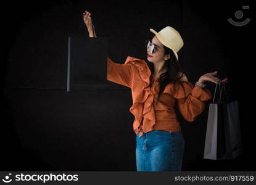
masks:
<svg viewBox="0 0 256 185"><path fill-rule="evenodd" d="M136 171L131 91L118 84L104 93L67 93L68 36L88 36L84 10L97 36L107 37L117 63L146 60L153 28L180 31L178 52L189 81L218 70L239 102L244 155L203 159L209 103L193 122L178 113L186 146L183 171L255 171L254 48L250 1L35 1L2 6L1 169ZM237 20L234 13L244 12ZM229 18L251 19L235 27ZM99 61L99 65L101 65ZM251 70L250 70L251 69ZM214 92L215 84L207 82Z"/></svg>

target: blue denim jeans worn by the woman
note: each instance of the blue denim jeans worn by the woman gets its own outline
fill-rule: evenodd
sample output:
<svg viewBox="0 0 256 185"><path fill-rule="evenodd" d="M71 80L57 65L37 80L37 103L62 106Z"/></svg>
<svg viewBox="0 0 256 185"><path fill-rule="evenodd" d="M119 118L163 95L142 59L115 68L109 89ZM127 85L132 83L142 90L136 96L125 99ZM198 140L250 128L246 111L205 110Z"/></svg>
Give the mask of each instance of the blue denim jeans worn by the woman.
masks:
<svg viewBox="0 0 256 185"><path fill-rule="evenodd" d="M181 171L184 138L181 131L152 130L136 135L137 171Z"/></svg>

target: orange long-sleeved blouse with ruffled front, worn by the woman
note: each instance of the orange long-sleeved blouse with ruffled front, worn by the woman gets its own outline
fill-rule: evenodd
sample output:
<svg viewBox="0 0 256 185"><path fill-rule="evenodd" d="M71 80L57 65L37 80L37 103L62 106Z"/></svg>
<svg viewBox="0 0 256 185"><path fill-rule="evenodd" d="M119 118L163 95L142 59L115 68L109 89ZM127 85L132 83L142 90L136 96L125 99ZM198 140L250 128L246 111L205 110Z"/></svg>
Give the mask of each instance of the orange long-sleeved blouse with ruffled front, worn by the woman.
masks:
<svg viewBox="0 0 256 185"><path fill-rule="evenodd" d="M180 131L181 126L175 113L175 105L187 121L194 121L205 109L205 102L212 99L207 88L194 86L183 81L173 92L173 83L168 84L157 101L159 78L150 85L151 70L145 60L128 56L125 64L118 64L107 57L107 80L131 88L133 105L130 112L134 115L133 131L143 133L152 130Z"/></svg>

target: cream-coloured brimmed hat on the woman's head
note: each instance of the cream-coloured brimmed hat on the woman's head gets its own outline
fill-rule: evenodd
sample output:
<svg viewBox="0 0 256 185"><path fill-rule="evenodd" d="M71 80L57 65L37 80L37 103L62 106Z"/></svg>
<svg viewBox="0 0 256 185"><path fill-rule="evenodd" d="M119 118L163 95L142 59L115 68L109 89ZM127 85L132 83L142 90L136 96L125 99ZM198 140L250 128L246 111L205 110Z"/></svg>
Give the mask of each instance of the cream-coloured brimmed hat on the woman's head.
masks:
<svg viewBox="0 0 256 185"><path fill-rule="evenodd" d="M175 30L175 28L169 27L169 26L163 28L158 33L152 28L149 31L151 31L152 33L155 34L155 36L157 36L160 43L170 48L174 52L176 59L178 60L177 52L184 45L183 39L181 38L180 33L177 30Z"/></svg>

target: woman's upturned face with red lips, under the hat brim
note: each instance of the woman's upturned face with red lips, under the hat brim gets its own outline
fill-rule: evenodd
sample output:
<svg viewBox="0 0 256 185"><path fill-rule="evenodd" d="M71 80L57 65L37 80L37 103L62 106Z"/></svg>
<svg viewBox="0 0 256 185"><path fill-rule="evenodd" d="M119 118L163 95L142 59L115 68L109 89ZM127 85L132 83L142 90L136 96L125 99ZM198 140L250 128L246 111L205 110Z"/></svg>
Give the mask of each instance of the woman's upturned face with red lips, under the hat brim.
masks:
<svg viewBox="0 0 256 185"><path fill-rule="evenodd" d="M149 60L149 62L161 62L164 60L167 60L168 57L164 55L164 49L163 49L163 44L160 43L159 39L157 38L157 36L154 36L151 40L151 43L155 45L155 47L157 47L156 51L151 54L149 52L150 47L147 48L147 60ZM152 57L150 57L149 55L151 55Z"/></svg>

